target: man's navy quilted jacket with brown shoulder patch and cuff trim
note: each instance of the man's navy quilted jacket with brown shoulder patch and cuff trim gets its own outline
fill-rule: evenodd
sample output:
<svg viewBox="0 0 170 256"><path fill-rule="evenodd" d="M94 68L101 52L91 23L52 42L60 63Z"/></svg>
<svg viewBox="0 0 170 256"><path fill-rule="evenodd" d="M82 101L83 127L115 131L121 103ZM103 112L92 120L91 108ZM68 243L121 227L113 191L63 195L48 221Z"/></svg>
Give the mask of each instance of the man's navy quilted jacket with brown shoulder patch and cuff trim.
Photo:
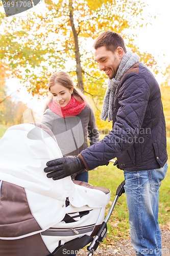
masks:
<svg viewBox="0 0 170 256"><path fill-rule="evenodd" d="M87 170L115 157L126 170L160 168L167 161L160 88L142 63L135 63L116 89L112 131L80 157Z"/></svg>

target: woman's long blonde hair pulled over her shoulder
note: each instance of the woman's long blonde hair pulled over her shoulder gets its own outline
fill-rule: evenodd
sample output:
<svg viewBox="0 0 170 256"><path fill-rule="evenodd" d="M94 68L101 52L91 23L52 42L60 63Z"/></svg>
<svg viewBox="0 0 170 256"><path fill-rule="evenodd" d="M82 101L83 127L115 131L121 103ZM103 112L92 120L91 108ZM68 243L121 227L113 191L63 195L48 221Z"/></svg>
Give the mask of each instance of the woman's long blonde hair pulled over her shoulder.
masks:
<svg viewBox="0 0 170 256"><path fill-rule="evenodd" d="M64 86L68 89L73 89L72 96L76 98L78 101L87 101L84 94L81 92L80 89L75 87L75 83L70 77L69 74L63 71L57 71L54 74L51 75L50 79L48 80L47 87L48 91L51 92L51 87L54 86L56 83L61 84L61 86ZM51 100L53 98L53 95L51 96Z"/></svg>

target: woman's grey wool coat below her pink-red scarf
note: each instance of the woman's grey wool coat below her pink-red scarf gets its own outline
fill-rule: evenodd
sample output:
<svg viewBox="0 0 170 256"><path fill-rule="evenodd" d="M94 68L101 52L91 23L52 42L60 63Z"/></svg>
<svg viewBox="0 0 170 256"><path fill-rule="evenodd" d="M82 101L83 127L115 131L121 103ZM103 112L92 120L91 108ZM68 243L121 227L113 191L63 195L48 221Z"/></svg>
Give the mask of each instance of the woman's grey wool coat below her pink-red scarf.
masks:
<svg viewBox="0 0 170 256"><path fill-rule="evenodd" d="M89 144L99 141L94 112L89 104L77 116L62 118L50 109L45 110L41 123L54 133L64 155L78 155Z"/></svg>

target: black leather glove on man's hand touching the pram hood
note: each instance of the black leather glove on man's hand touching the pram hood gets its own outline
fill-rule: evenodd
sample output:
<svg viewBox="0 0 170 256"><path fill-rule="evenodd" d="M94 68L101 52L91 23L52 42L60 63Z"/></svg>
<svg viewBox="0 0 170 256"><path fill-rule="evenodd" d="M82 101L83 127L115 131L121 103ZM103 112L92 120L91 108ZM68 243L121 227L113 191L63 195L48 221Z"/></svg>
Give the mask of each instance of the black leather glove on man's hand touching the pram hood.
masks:
<svg viewBox="0 0 170 256"><path fill-rule="evenodd" d="M65 156L59 159L48 161L44 172L48 178L60 180L72 174L80 173L85 169L84 163L79 156Z"/></svg>

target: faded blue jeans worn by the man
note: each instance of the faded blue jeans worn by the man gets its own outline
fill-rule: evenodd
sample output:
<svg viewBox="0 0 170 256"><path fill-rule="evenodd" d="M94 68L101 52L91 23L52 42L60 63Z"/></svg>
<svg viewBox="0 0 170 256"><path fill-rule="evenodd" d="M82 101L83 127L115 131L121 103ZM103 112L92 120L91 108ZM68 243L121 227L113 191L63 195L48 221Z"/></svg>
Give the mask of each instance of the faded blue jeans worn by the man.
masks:
<svg viewBox="0 0 170 256"><path fill-rule="evenodd" d="M137 255L161 256L159 187L166 171L167 164L160 169L124 170L131 243Z"/></svg>

